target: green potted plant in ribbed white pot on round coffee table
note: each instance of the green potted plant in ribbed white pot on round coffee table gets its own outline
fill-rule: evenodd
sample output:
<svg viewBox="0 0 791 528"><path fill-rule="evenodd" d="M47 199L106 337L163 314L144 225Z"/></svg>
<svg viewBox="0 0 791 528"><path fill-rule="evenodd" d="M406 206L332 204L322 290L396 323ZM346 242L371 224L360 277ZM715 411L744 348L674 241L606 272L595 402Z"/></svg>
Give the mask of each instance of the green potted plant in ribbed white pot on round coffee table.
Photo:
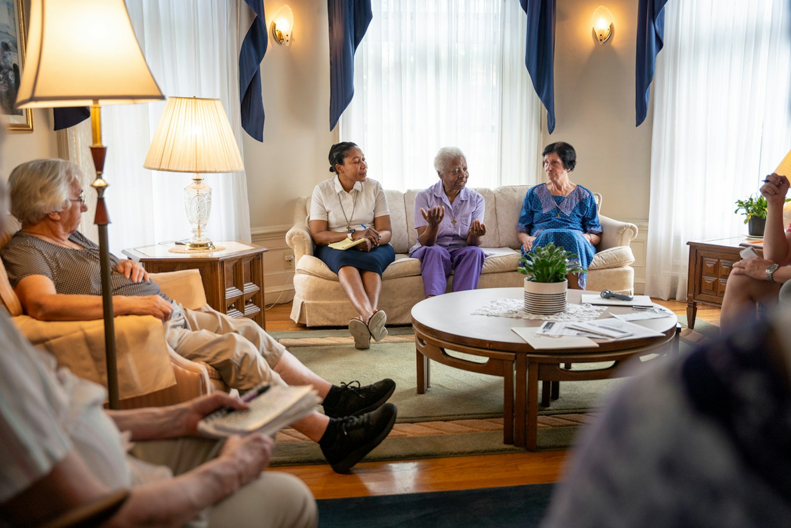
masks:
<svg viewBox="0 0 791 528"><path fill-rule="evenodd" d="M584 272L576 257L552 242L525 253L517 271L524 279L524 310L528 313L558 313L566 310L569 273Z"/></svg>

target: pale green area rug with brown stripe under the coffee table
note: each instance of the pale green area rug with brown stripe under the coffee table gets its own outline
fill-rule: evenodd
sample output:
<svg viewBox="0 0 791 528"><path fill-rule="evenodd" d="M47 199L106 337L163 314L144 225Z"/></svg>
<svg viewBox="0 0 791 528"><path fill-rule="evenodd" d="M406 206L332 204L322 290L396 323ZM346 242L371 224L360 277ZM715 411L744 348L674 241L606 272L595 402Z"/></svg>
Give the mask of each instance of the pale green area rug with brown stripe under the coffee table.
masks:
<svg viewBox="0 0 791 528"><path fill-rule="evenodd" d="M381 378L395 380L390 401L399 408L397 423L366 461L522 451L502 443L502 378L432 362L431 387L425 394L418 394L412 329L407 326L388 330L388 337L365 351L354 348L354 340L346 329L272 332L272 336L330 382L359 380L365 385ZM696 321L694 331L682 331L682 353L718 333L716 326ZM606 363L580 364L575 368L603 365ZM560 399L552 401L549 408L539 407L539 449L570 446L579 426L595 416L592 410L622 382L623 379L607 379L562 383ZM324 463L316 443L293 429L278 433L273 465L311 463Z"/></svg>

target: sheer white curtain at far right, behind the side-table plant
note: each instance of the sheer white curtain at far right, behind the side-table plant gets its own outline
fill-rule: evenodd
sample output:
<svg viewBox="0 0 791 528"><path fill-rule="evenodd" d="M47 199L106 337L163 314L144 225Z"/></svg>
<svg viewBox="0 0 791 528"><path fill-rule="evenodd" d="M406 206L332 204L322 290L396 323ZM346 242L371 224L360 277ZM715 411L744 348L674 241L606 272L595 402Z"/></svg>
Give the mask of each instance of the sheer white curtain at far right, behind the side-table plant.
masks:
<svg viewBox="0 0 791 528"><path fill-rule="evenodd" d="M673 0L657 58L645 293L686 297L687 241L746 234L736 199L791 147L785 0Z"/></svg>

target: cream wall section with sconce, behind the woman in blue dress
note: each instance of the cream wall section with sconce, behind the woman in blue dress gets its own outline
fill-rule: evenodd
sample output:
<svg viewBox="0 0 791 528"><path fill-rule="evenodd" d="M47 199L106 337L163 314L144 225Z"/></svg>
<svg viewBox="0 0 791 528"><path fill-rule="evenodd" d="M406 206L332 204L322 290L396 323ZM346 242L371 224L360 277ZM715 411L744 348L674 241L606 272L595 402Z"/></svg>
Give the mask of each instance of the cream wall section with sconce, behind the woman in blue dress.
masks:
<svg viewBox="0 0 791 528"><path fill-rule="evenodd" d="M559 0L555 33L556 125L543 141L577 150L571 180L604 195L602 213L645 222L649 207L652 105L634 127L634 58L638 2L607 0L615 30L602 45L591 16L600 0ZM545 121L546 123L546 121ZM546 128L546 124L544 125Z"/></svg>

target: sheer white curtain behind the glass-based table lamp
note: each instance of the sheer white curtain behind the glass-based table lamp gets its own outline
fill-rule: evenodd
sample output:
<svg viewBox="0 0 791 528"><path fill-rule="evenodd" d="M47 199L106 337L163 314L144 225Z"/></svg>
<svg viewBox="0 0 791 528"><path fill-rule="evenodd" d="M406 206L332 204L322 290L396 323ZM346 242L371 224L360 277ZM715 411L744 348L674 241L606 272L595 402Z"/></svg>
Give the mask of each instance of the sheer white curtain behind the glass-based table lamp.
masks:
<svg viewBox="0 0 791 528"><path fill-rule="evenodd" d="M162 92L220 99L241 150L237 9L246 9L244 2L127 0L127 9ZM142 166L164 108L165 101L102 108L109 239L116 255L121 249L191 235L182 198L190 175ZM244 172L205 178L213 191L208 236L214 241L250 240Z"/></svg>

